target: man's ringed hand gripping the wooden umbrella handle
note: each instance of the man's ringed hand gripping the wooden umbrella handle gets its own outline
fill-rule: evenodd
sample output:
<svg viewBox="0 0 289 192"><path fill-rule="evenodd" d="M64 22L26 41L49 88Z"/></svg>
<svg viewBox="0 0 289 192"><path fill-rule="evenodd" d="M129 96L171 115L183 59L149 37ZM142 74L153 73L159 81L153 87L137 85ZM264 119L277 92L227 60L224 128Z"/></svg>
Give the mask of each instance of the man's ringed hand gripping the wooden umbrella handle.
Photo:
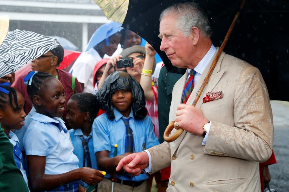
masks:
<svg viewBox="0 0 289 192"><path fill-rule="evenodd" d="M175 121L179 123L178 128L182 128L196 135L202 135L204 133L203 126L208 120L203 116L200 108L187 104L179 104L176 116ZM175 125L174 128L178 129Z"/></svg>

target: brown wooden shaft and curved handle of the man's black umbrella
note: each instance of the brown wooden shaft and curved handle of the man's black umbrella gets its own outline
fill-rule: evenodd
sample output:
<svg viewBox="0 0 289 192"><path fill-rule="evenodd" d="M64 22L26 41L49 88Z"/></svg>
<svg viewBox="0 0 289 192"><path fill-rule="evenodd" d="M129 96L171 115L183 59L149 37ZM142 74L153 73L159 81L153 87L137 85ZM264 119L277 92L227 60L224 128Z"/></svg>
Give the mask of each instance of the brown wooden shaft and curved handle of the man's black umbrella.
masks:
<svg viewBox="0 0 289 192"><path fill-rule="evenodd" d="M245 1L246 1L246 0L243 0L243 1L242 1L241 5L240 5L240 10L243 9L243 7L244 7L244 5L245 5ZM218 59L219 59L219 57L221 56L221 53L222 53L225 45L227 44L227 41L228 41L229 36L231 35L232 29L234 28L234 25L235 25L235 23L236 23L239 15L240 15L240 10L236 13L236 15L235 15L235 17L234 17L234 19L233 19L233 21L232 21L232 23L231 23L231 26L230 26L230 28L229 28L226 36L225 36L225 39L224 39L224 41L222 42L222 45L220 46L220 49L219 49L219 51L217 52L217 55L216 55L216 57L215 57L212 65L211 65L211 67L210 67L210 69L209 69L209 71L208 71L205 79L204 79L204 82L203 82L203 84L201 85L199 91L197 92L197 95L196 95L196 97L195 97L195 99L194 99L194 101L193 101L193 106L194 106L194 107L196 106L196 104L197 104L200 96L202 95L202 93L203 93L203 91L204 91L204 88L205 88L205 86L207 85L207 82L209 81L209 78L210 78L211 74L213 73L213 70L214 70L214 68L215 68L215 66L216 66L216 64L217 64L217 62L218 62ZM163 133L163 139L164 139L166 142L168 142L168 143L176 140L176 139L182 134L182 132L184 131L182 128L179 128L179 129L176 131L175 134L173 134L171 137L169 137L170 132L171 132L172 129L174 128L174 123L175 123L175 122L172 121L172 122L166 127L166 130L165 130L165 132Z"/></svg>

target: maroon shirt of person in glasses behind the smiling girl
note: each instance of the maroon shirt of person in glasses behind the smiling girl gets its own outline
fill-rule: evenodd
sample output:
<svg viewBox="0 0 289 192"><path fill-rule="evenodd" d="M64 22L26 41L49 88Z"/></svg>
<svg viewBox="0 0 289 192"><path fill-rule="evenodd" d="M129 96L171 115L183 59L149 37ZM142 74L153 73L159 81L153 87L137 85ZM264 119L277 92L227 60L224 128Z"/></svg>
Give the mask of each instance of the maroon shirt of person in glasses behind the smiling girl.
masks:
<svg viewBox="0 0 289 192"><path fill-rule="evenodd" d="M58 75L58 80L62 83L64 87L64 93L66 96L66 104L65 104L65 110L63 113L63 120L65 121L65 125L67 129L70 129L69 125L67 124L65 117L67 115L67 102L70 99L70 97L73 95L73 90L72 90L72 75L70 73L67 73L64 70L61 69L56 69L57 70L57 75ZM27 93L27 85L24 84L23 78L27 74L21 75L15 82L14 85L12 85L15 89L17 89L24 97L25 100L25 105L24 105L24 111L26 114L30 112L32 109L32 101L30 100L28 93ZM74 94L75 93L81 93L82 88L80 83L78 82L77 79L75 79L75 88L74 88Z"/></svg>

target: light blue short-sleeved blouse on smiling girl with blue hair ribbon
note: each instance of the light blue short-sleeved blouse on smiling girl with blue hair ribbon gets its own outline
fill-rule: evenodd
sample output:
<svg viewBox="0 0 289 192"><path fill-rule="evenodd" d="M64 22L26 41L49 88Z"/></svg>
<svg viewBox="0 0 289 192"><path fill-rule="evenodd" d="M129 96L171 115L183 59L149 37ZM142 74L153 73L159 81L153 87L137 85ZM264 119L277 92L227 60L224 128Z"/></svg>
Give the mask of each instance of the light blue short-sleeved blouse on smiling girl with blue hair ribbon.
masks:
<svg viewBox="0 0 289 192"><path fill-rule="evenodd" d="M44 174L57 175L79 168L64 121L36 112L31 119L23 137L23 146L26 155L46 156ZM51 123L60 124L60 128Z"/></svg>

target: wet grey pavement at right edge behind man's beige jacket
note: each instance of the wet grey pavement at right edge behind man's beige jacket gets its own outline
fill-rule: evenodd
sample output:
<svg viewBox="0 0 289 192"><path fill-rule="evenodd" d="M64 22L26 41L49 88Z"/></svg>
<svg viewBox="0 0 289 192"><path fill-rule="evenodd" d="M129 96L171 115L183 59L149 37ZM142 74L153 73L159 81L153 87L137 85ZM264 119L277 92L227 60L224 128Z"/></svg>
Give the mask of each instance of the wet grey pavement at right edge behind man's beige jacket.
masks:
<svg viewBox="0 0 289 192"><path fill-rule="evenodd" d="M271 189L289 191L289 102L271 101L274 120L274 153L277 164L269 166Z"/></svg>

